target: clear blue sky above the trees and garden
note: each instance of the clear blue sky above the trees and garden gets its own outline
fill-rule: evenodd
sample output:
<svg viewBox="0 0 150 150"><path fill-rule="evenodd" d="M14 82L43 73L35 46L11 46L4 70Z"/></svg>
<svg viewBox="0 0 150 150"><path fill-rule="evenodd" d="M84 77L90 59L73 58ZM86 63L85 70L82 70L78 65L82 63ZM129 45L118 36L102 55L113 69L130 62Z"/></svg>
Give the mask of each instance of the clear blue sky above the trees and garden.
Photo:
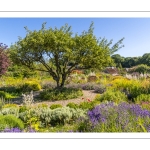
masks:
<svg viewBox="0 0 150 150"><path fill-rule="evenodd" d="M10 46L18 41L18 36L25 37L25 26L39 30L43 22L47 22L47 28L59 28L68 23L74 33L81 33L88 30L92 21L97 38L113 39L113 43L125 38L125 47L116 52L121 56L150 53L150 18L0 18L0 42Z"/></svg>

